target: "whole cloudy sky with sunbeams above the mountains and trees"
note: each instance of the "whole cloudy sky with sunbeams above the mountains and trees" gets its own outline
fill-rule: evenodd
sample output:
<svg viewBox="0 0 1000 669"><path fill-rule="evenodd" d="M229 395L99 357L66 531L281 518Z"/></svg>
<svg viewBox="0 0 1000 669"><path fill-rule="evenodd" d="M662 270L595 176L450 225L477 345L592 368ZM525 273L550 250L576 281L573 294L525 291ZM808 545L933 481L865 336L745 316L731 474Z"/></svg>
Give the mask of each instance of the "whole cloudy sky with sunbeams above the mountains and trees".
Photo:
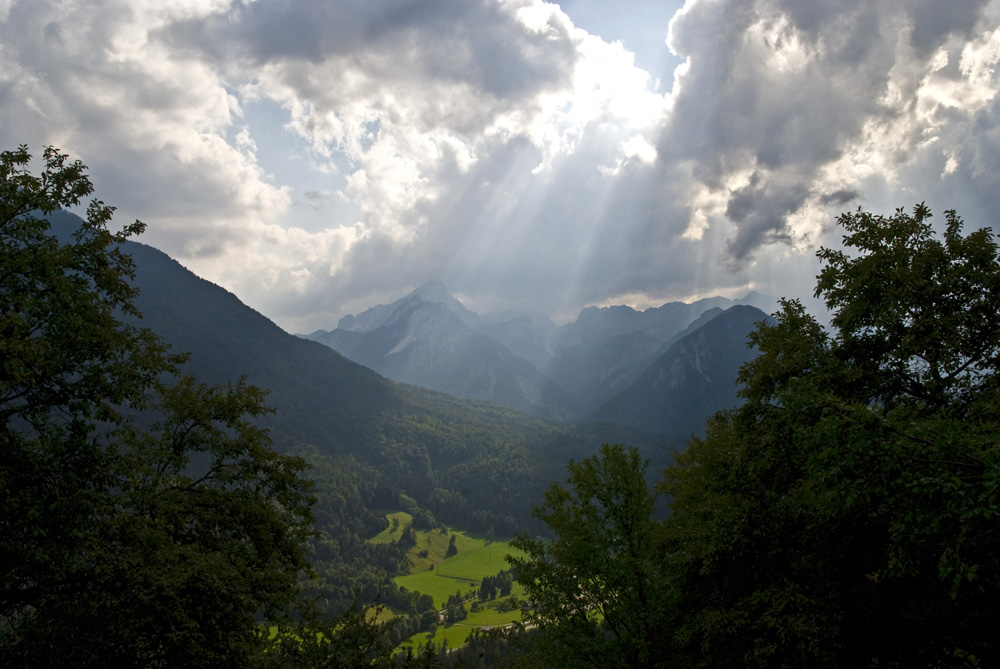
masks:
<svg viewBox="0 0 1000 669"><path fill-rule="evenodd" d="M0 0L0 148L289 332L811 295L838 214L1000 211L1000 0Z"/></svg>

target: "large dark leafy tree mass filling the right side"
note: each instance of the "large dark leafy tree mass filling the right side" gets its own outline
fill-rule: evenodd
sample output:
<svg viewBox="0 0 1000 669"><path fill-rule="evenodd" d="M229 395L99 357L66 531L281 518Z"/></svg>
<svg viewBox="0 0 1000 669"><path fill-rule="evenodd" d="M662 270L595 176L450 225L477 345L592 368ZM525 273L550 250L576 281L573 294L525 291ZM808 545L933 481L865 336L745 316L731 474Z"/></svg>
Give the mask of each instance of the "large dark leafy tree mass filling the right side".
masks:
<svg viewBox="0 0 1000 669"><path fill-rule="evenodd" d="M818 252L835 333L783 302L743 406L668 469L684 662L1000 664L1000 261L930 217L842 215Z"/></svg>

